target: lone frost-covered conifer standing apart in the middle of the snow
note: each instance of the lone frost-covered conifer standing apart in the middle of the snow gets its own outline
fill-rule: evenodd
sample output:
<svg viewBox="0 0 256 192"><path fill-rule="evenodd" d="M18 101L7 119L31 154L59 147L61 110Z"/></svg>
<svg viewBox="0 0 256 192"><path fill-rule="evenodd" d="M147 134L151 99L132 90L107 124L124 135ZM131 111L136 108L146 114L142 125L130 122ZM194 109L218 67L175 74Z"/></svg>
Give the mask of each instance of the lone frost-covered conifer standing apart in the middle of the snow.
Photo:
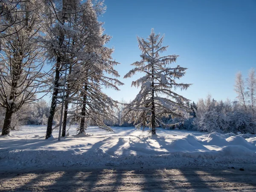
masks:
<svg viewBox="0 0 256 192"><path fill-rule="evenodd" d="M136 128L150 127L151 134L154 135L156 127L160 124L172 126L161 121L163 116L171 115L182 118L190 111L186 106L186 102L189 100L175 93L177 88L186 90L190 84L176 81L185 75L187 68L179 65L170 66L176 61L178 55L160 55L166 51L168 46L162 47L163 37L160 38L160 35L156 35L154 29L151 30L147 40L139 37L137 40L142 51L141 60L132 64L136 67L129 71L124 78L129 78L137 72L144 73L145 76L132 82L131 86L140 87L140 92L125 107L122 119L130 114L129 122L134 122Z"/></svg>

